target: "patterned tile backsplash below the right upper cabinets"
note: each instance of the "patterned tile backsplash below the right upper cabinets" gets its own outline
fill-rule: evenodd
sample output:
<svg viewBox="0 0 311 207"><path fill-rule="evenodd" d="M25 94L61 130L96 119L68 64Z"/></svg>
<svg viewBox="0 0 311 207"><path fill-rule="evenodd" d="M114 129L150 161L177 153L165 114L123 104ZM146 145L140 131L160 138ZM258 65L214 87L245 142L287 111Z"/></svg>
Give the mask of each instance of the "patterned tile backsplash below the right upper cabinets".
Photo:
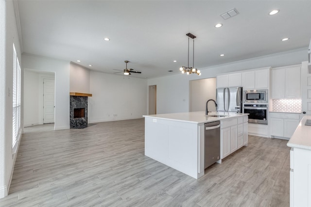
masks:
<svg viewBox="0 0 311 207"><path fill-rule="evenodd" d="M301 99L272 99L272 110L278 112L301 112Z"/></svg>

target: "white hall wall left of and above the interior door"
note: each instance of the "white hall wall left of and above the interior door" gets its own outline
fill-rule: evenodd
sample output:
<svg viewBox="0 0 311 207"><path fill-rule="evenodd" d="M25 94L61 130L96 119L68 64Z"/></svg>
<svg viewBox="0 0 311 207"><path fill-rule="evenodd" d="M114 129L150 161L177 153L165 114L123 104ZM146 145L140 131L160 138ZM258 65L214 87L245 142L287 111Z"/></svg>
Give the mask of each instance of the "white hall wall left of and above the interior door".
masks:
<svg viewBox="0 0 311 207"><path fill-rule="evenodd" d="M43 124L43 79L54 73L24 70L24 127Z"/></svg>

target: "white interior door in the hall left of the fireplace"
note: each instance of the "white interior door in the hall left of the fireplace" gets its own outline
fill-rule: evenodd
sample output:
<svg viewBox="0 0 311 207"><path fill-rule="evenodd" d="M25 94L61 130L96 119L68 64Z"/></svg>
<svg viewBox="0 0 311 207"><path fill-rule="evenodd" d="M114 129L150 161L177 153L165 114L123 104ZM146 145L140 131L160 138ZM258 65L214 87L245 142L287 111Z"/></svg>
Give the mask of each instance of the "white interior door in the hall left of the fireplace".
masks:
<svg viewBox="0 0 311 207"><path fill-rule="evenodd" d="M54 123L55 80L43 79L43 124Z"/></svg>

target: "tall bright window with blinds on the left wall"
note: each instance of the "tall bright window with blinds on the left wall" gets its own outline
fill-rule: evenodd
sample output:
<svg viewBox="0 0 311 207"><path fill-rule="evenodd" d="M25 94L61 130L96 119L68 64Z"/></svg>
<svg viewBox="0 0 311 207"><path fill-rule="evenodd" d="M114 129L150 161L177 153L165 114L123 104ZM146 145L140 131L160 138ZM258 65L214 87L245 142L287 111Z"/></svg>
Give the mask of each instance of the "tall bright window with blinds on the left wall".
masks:
<svg viewBox="0 0 311 207"><path fill-rule="evenodd" d="M13 145L17 143L18 130L20 127L20 65L13 44Z"/></svg>

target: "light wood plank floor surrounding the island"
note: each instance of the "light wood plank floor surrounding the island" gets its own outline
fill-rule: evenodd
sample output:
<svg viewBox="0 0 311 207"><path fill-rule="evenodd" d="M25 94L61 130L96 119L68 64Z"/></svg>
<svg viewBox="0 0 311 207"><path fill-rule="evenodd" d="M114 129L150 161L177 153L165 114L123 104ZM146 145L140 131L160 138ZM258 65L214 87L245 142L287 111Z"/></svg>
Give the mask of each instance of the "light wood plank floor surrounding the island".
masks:
<svg viewBox="0 0 311 207"><path fill-rule="evenodd" d="M144 156L144 119L35 127L25 128L1 207L289 206L285 140L249 136L196 180Z"/></svg>

